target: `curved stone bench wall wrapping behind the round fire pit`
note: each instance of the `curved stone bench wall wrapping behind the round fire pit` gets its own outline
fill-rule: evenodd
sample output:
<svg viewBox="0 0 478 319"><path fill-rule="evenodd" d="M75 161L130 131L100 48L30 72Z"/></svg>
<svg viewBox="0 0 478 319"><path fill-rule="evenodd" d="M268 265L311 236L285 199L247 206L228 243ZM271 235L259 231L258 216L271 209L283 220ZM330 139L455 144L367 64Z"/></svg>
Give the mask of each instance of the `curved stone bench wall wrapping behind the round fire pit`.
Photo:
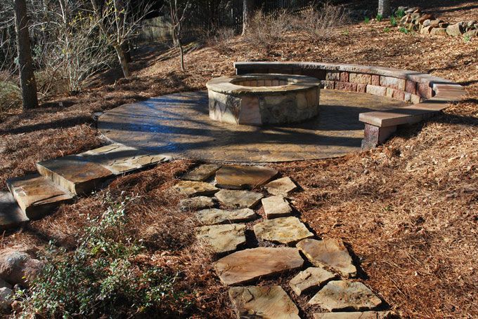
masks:
<svg viewBox="0 0 478 319"><path fill-rule="evenodd" d="M235 62L239 74L297 74L321 80L323 88L392 97L411 103L388 111L361 113L365 123L362 149L382 144L399 125L418 123L458 102L465 89L457 83L430 74L374 67L321 62Z"/></svg>

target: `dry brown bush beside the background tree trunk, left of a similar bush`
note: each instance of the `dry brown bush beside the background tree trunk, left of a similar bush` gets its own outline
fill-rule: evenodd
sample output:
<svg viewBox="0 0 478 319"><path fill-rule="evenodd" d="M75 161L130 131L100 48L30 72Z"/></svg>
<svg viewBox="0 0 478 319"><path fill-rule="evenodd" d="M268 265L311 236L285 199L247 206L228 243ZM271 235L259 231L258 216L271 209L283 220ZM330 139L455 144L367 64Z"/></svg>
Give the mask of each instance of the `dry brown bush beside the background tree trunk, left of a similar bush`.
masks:
<svg viewBox="0 0 478 319"><path fill-rule="evenodd" d="M257 11L250 20L245 41L254 48L270 53L288 31L288 19L285 17L284 13L266 15L260 10Z"/></svg>

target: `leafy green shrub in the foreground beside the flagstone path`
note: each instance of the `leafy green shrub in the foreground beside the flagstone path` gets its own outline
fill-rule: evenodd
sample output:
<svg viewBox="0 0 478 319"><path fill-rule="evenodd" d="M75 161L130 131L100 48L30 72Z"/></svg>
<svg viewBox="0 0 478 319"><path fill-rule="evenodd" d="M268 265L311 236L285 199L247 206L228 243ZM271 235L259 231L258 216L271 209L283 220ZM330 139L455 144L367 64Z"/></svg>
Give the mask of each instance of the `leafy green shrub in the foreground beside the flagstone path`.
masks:
<svg viewBox="0 0 478 319"><path fill-rule="evenodd" d="M107 196L108 209L89 221L74 252L51 245L40 276L29 291L19 292L23 318L125 318L158 313L179 300L173 290L177 275L134 262L144 247L124 232L131 200Z"/></svg>

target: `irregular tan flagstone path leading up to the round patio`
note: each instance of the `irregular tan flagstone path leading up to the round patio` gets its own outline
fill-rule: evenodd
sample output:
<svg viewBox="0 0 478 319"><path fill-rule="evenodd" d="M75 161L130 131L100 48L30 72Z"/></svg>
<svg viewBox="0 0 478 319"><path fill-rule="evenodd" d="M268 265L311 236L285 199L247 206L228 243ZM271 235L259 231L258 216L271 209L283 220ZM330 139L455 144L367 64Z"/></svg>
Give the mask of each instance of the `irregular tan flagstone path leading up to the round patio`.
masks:
<svg viewBox="0 0 478 319"><path fill-rule="evenodd" d="M216 172L214 180L210 175L212 171ZM187 210L186 204L195 198L200 198L200 205L190 205L191 211L202 203L212 205L217 201L221 206L198 210L193 215L198 222L198 240L213 252L226 254L213 266L221 283L239 286L228 290L238 318L300 318L299 309L283 287L260 285L264 279L290 272L295 272L288 283L293 294L306 298L309 305L323 311L310 314L314 318L389 318L393 315L392 311L375 311L383 308L382 299L363 283L349 280L356 277L357 269L342 240L315 239L299 217L290 216L292 207L286 198L293 196L298 187L289 177L271 181L276 175L275 170L257 166L223 165L217 169L205 164L183 175L183 180L174 186L183 196L204 195L204 192L214 196L185 198L181 201L183 210ZM205 180L209 182L203 182ZM259 186L272 196L264 197ZM243 190L245 188L254 191ZM264 216L254 212L260 201ZM245 236L247 229L254 231L257 242L247 243L251 239ZM264 245L281 246L262 247ZM248 248L241 250L242 247ZM313 266L304 269L306 262ZM245 284L259 285L243 287Z"/></svg>

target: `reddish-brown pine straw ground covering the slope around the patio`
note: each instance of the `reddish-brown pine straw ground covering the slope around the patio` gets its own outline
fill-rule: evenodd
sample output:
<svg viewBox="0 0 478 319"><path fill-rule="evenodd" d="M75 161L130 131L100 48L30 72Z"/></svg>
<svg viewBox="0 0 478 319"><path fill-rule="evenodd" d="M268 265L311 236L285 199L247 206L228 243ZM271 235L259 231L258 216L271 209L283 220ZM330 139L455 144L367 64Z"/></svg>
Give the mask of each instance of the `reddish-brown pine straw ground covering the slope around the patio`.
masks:
<svg viewBox="0 0 478 319"><path fill-rule="evenodd" d="M415 1L443 20L478 19L476 1L422 2ZM288 34L269 55L240 37L221 53L191 46L186 72L180 71L173 51L142 46L134 52L130 79L100 76L75 97L58 97L25 114L4 114L0 187L6 189L8 177L34 172L37 161L103 144L91 120L94 111L205 89L212 77L233 74L235 61L349 62L428 72L465 86L467 97L426 123L399 130L372 151L272 166L301 186L292 203L304 221L321 238L342 238L361 266L361 279L403 318L477 318L478 39L403 34L394 28L385 32L387 25L356 22L319 43ZM214 257L192 239L190 213L177 211L179 199L167 192L193 164L175 161L121 177L98 194L5 233L1 245L41 247L53 239L74 247L87 215L102 212L105 192L134 192L141 201L129 209L129 231L148 247L141 262L179 271L182 280L176 289L186 291L184 298L193 304L171 309L169 316L232 318L226 289L212 270ZM288 278L286 274L269 283L290 292ZM301 311L311 313L307 298L294 300Z"/></svg>

